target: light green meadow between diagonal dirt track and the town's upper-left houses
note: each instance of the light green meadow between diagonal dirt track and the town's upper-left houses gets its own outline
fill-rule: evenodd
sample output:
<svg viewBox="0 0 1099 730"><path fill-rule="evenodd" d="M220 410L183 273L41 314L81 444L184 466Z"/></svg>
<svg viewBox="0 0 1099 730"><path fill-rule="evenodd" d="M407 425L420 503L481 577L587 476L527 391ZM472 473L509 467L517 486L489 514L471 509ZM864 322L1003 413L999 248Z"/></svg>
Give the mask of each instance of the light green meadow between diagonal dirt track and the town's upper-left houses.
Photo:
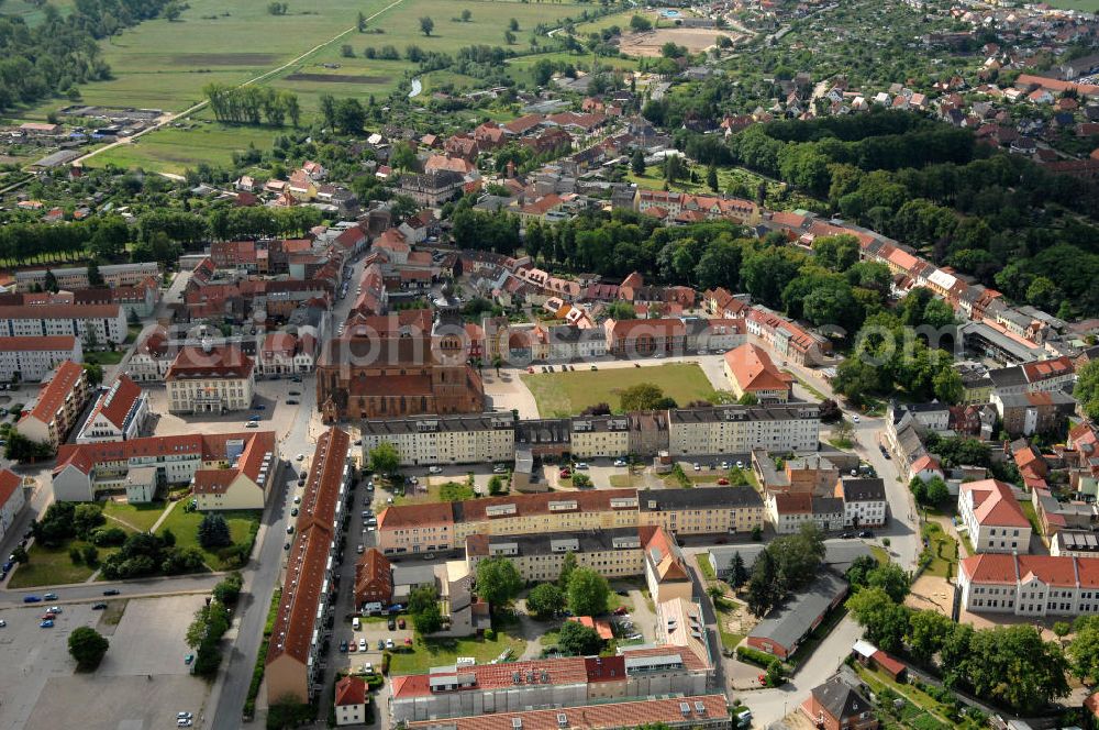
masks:
<svg viewBox="0 0 1099 730"><path fill-rule="evenodd" d="M243 152L249 144L268 150L277 129L270 126L236 126L207 119L208 112L180 122L181 128L168 126L149 132L135 144L121 144L90 157L88 167L141 167L158 173L180 175L199 163L229 165L233 152Z"/></svg>

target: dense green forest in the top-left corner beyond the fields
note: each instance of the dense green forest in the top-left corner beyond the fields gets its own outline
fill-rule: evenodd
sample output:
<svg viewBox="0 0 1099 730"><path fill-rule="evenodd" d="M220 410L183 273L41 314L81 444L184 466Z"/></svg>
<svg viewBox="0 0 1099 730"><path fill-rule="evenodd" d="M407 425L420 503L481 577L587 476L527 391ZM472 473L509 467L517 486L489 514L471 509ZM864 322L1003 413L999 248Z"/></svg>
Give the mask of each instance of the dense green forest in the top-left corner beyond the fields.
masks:
<svg viewBox="0 0 1099 730"><path fill-rule="evenodd" d="M76 99L78 85L110 78L97 41L156 18L171 1L76 0L67 18L47 4L34 27L0 16L0 112L54 95Z"/></svg>

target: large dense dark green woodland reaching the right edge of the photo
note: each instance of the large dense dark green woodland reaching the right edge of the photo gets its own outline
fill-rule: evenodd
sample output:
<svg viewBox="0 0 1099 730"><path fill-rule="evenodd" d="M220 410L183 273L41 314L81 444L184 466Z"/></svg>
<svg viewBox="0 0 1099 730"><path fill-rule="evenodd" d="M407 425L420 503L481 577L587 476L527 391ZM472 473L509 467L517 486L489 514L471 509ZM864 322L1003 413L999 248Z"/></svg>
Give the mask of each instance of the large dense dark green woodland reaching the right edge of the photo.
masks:
<svg viewBox="0 0 1099 730"><path fill-rule="evenodd" d="M681 131L677 144L703 164L778 178L1013 301L1099 313L1099 185L978 144L969 130L877 111L756 124L728 141Z"/></svg>

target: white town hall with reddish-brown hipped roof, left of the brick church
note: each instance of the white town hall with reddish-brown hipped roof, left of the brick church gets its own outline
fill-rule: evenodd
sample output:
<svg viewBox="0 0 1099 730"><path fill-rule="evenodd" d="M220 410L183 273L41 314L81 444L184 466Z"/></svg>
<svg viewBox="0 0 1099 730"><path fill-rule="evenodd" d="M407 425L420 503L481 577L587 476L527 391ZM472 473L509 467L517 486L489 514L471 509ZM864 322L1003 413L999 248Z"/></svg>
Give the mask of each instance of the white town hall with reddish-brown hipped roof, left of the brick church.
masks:
<svg viewBox="0 0 1099 730"><path fill-rule="evenodd" d="M237 345L180 347L164 383L173 413L224 413L252 407L255 363Z"/></svg>

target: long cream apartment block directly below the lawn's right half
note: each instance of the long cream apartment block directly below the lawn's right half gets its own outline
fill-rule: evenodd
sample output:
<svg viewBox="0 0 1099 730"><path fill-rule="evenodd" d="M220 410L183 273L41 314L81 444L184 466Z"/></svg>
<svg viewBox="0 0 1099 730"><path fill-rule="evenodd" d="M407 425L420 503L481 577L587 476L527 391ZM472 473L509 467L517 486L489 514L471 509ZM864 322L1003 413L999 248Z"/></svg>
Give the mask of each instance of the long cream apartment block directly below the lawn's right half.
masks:
<svg viewBox="0 0 1099 730"><path fill-rule="evenodd" d="M669 412L674 455L747 454L754 449L813 452L820 441L815 403L676 409Z"/></svg>

